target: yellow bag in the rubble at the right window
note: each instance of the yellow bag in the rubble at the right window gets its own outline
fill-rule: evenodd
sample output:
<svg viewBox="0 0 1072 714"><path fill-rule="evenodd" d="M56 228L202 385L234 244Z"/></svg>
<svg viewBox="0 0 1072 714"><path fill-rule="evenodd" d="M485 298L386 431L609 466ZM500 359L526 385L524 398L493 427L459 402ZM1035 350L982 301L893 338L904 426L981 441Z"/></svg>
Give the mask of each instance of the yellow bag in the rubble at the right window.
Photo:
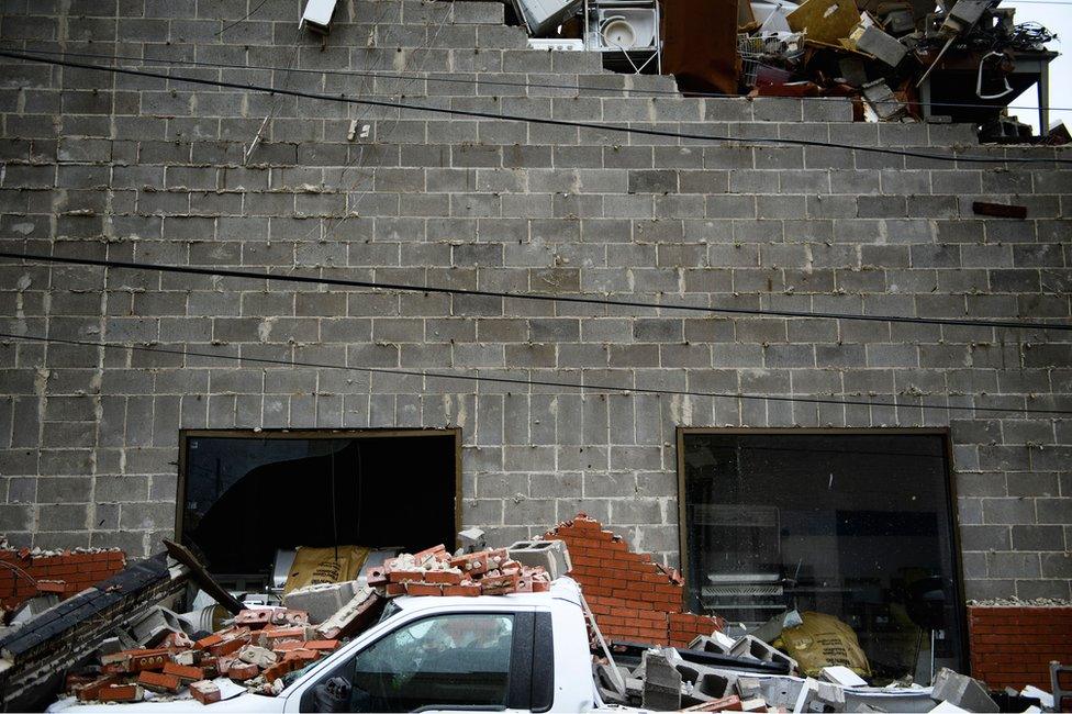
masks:
<svg viewBox="0 0 1072 714"><path fill-rule="evenodd" d="M852 628L833 615L801 613L804 623L788 627L771 643L796 660L801 673L818 677L824 667L848 667L860 677L871 676L868 657Z"/></svg>

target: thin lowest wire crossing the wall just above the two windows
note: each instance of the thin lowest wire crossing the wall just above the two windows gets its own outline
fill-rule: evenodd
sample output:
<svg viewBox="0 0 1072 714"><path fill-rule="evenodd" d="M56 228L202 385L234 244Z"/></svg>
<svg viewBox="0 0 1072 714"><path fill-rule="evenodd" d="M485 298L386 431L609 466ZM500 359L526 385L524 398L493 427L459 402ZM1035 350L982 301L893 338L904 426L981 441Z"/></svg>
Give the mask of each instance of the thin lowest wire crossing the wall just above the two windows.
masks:
<svg viewBox="0 0 1072 714"><path fill-rule="evenodd" d="M517 384L521 387L559 387L566 389L594 390L599 392L624 392L639 394L660 394L666 397L704 397L711 399L739 399L759 402L788 402L803 404L831 404L836 406L869 406L869 408L890 408L890 409L934 409L951 412L995 412L1002 414L1045 414L1048 416L1069 416L1072 410L1063 409L1031 409L1015 406L962 406L959 404L898 404L897 402L882 402L873 400L856 399L833 399L824 397L778 397L770 394L749 394L734 392L692 392L684 389L659 389L654 387L619 387L617 384L591 383L583 384L578 382L567 382L558 380L524 379L521 377L491 377L473 375L470 372L436 372L421 369L404 369L389 367L351 367L347 365L333 365L328 362L314 362L298 359L273 359L270 357L242 357L235 355L220 355L212 353L191 352L189 349L171 349L168 347L147 347L142 345L121 345L115 343L90 342L88 339L69 339L60 337L45 337L42 335L15 335L13 333L0 332L0 339L22 339L25 342L37 342L57 345L76 345L80 347L92 347L96 349L131 349L150 354L176 355L180 357L204 357L209 359L222 359L228 361L248 362L253 365L275 365L280 367L310 367L313 369L336 369L340 371L357 371L371 375L397 375L402 377L421 377L423 379L445 379L461 380L470 382L491 382L496 384ZM976 397L975 394L958 394L958 397Z"/></svg>

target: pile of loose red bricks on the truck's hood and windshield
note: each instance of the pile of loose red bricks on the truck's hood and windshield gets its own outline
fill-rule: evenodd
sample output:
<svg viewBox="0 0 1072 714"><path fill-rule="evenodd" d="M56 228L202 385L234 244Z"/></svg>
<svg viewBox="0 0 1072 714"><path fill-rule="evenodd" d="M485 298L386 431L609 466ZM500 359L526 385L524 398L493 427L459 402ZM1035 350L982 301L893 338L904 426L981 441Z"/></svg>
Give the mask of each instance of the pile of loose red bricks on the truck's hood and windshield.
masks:
<svg viewBox="0 0 1072 714"><path fill-rule="evenodd" d="M377 599L368 592L361 596L362 602ZM312 627L306 613L286 607L243 610L231 626L196 642L176 632L152 649L102 654L97 671L69 676L67 689L81 702L136 702L147 691L154 699L179 698L188 690L211 704L221 699L216 678L222 677L275 695L282 690L282 677L334 651L339 640L327 635L343 629L337 623Z"/></svg>

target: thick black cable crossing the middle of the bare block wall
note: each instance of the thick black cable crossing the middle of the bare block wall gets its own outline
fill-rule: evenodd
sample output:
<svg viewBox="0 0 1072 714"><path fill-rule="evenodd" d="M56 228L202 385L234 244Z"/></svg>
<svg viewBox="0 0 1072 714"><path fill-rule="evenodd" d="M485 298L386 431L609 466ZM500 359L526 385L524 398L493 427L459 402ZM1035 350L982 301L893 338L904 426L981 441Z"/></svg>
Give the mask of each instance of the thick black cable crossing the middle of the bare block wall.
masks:
<svg viewBox="0 0 1072 714"><path fill-rule="evenodd" d="M0 250L0 258L15 258L23 260L40 260L42 263L58 263L63 265L94 266L102 268L122 268L131 270L155 270L157 272L172 272L182 275L199 275L220 278L248 278L250 280L277 280L280 282L299 282L305 285L339 286L346 288L369 288L375 290L398 290L401 292L432 292L450 295L473 295L478 298L502 298L514 300L535 300L544 302L571 302L589 305L611 308L650 308L657 310L683 310L686 312L724 313L734 315L752 315L760 317L807 317L814 320L853 320L864 322L897 322L926 325L943 325L953 327L987 327L1009 330L1060 330L1072 331L1072 324L1040 323L1006 320L973 320L969 317L913 317L905 315L866 315L859 313L809 312L805 310L780 310L759 308L730 308L689 304L666 304L644 302L640 300L610 300L606 298L587 298L583 295L550 295L533 292L505 292L498 290L470 290L467 288L446 288L442 286L416 286L404 282L378 282L375 280L351 280L346 278L317 278L315 276L277 275L271 272L256 272L252 270L234 270L230 268L198 268L193 266L161 265L158 263L132 263L129 260L105 260L102 258L76 258L67 256L49 256L34 253L10 253Z"/></svg>

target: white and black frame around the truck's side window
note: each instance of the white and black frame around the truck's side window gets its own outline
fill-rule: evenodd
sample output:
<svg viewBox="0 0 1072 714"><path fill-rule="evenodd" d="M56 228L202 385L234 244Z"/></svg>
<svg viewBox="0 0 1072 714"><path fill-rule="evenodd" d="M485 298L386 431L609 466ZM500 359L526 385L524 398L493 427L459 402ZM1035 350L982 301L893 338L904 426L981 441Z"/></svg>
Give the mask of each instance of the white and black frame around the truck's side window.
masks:
<svg viewBox="0 0 1072 714"><path fill-rule="evenodd" d="M360 645L355 646L350 651L347 651L345 656L340 656L338 661L332 663L330 667L317 668L316 670L309 672L308 681L295 682L293 692L291 692L288 696L288 703L290 701L294 701L298 704L298 707L292 710L287 706L286 711L312 711L306 710L303 706L305 700L312 696L313 689L322 681L340 674L339 670L350 665L355 657L360 656L361 652L368 650L370 647L375 647L384 638L425 620L436 620L439 617L451 617L457 615L488 615L499 617L510 616L513 618L513 625L511 627L510 679L506 684L506 704L501 707L484 704L428 704L413 711L422 712L431 710L453 712L504 712L512 710L528 710L533 701L533 668L535 666L534 637L536 633L536 620L539 611L535 610L534 607L467 607L464 610L459 609L457 611L433 609L432 611L415 612L413 613L412 617L405 617L400 622L393 623L393 627L388 627L381 632L377 632L373 637L370 637L369 639L361 642ZM344 651L345 650L340 651L339 655L343 655ZM536 711L546 711L546 709Z"/></svg>

